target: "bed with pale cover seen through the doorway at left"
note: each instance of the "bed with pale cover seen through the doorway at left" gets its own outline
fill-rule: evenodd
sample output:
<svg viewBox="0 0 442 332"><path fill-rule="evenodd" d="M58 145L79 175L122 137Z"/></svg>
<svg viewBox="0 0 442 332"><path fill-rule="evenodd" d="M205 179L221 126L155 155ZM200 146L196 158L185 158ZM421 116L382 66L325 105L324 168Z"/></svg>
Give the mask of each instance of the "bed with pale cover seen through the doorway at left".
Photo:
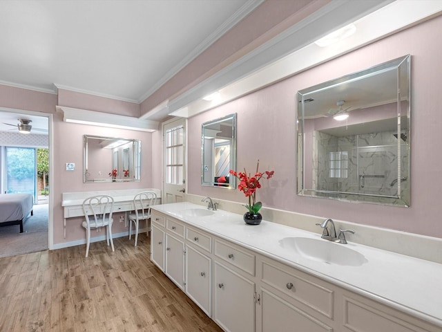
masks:
<svg viewBox="0 0 442 332"><path fill-rule="evenodd" d="M28 214L33 215L34 197L31 194L0 194L0 226L20 225Z"/></svg>

